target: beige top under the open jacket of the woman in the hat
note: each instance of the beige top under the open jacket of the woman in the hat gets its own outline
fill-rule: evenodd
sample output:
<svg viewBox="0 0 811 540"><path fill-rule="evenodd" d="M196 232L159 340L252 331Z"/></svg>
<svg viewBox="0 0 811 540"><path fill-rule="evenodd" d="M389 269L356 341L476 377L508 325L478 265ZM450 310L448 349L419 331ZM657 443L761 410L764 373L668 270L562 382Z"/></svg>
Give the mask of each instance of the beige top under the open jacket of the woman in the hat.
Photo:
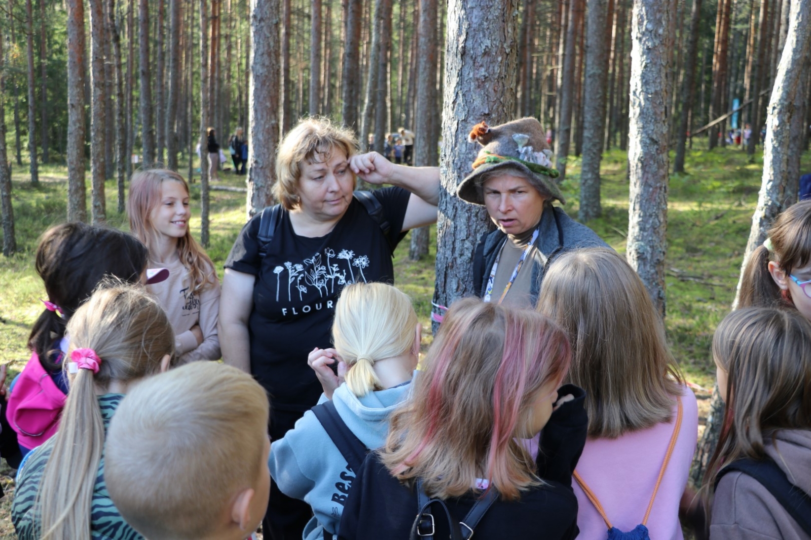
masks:
<svg viewBox="0 0 811 540"><path fill-rule="evenodd" d="M501 257L499 258L499 267L496 268L496 278L493 279L493 292L490 297L491 302L498 302L501 295L504 293L504 287L507 287L510 276L513 275L513 270L521 259L521 253L524 253L526 245L532 240L532 233L535 232L535 227L530 228L529 231L523 232L520 235L507 235L507 240L504 242L504 247L501 248ZM534 308L530 300L530 289L532 287L532 267L533 261L543 266L546 262L543 253L539 252L538 248L532 247L530 253L524 259L524 264L521 265L521 270L513 281L513 286L510 287L507 296L504 296L502 304L511 305L515 308ZM487 278L490 276L487 275Z"/></svg>

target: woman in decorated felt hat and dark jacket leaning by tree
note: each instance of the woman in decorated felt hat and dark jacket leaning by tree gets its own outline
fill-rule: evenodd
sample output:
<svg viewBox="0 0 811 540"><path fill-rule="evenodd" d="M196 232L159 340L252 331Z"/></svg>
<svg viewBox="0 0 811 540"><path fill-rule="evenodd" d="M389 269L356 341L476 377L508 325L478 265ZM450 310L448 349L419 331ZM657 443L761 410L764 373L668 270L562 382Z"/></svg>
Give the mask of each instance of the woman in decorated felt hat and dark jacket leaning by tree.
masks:
<svg viewBox="0 0 811 540"><path fill-rule="evenodd" d="M534 306L553 257L569 249L608 246L589 227L552 206L555 200L565 201L538 120L520 118L494 127L482 122L474 126L470 140L483 148L457 195L485 206L498 227L476 247L476 291L485 301Z"/></svg>

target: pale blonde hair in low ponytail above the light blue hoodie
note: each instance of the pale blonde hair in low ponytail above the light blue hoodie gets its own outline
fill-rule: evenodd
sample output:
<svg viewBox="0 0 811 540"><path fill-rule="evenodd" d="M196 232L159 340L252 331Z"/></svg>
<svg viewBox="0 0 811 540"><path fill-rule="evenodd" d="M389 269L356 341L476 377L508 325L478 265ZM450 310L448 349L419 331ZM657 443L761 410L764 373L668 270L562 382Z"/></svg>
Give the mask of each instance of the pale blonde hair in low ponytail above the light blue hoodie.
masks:
<svg viewBox="0 0 811 540"><path fill-rule="evenodd" d="M380 390L373 368L377 360L414 347L417 313L405 293L386 283L344 287L335 304L333 343L349 370L346 386L358 398Z"/></svg>

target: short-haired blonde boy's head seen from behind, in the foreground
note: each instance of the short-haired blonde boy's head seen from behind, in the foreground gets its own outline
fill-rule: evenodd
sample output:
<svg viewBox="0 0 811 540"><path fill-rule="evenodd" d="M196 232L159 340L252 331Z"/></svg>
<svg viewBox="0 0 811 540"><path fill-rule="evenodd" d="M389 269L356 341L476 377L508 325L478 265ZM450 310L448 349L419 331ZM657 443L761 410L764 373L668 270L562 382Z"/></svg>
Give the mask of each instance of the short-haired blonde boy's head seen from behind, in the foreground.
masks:
<svg viewBox="0 0 811 540"><path fill-rule="evenodd" d="M110 423L109 494L148 540L243 540L268 506L268 398L251 376L193 362L132 389Z"/></svg>

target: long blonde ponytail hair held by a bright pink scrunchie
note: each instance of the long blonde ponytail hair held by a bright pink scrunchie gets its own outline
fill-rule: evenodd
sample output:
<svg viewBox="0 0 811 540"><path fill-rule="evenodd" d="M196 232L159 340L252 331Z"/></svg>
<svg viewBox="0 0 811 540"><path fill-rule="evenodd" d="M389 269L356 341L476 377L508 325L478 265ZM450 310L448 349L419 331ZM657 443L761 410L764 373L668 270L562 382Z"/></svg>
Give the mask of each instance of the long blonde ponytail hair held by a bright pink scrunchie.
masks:
<svg viewBox="0 0 811 540"><path fill-rule="evenodd" d="M71 344L63 369L70 391L36 500L42 540L90 538L92 493L105 439L97 385L157 373L163 356L174 355L174 332L163 308L138 286L97 290L71 317L67 334ZM79 348L96 352L98 373L70 373L71 353Z"/></svg>

